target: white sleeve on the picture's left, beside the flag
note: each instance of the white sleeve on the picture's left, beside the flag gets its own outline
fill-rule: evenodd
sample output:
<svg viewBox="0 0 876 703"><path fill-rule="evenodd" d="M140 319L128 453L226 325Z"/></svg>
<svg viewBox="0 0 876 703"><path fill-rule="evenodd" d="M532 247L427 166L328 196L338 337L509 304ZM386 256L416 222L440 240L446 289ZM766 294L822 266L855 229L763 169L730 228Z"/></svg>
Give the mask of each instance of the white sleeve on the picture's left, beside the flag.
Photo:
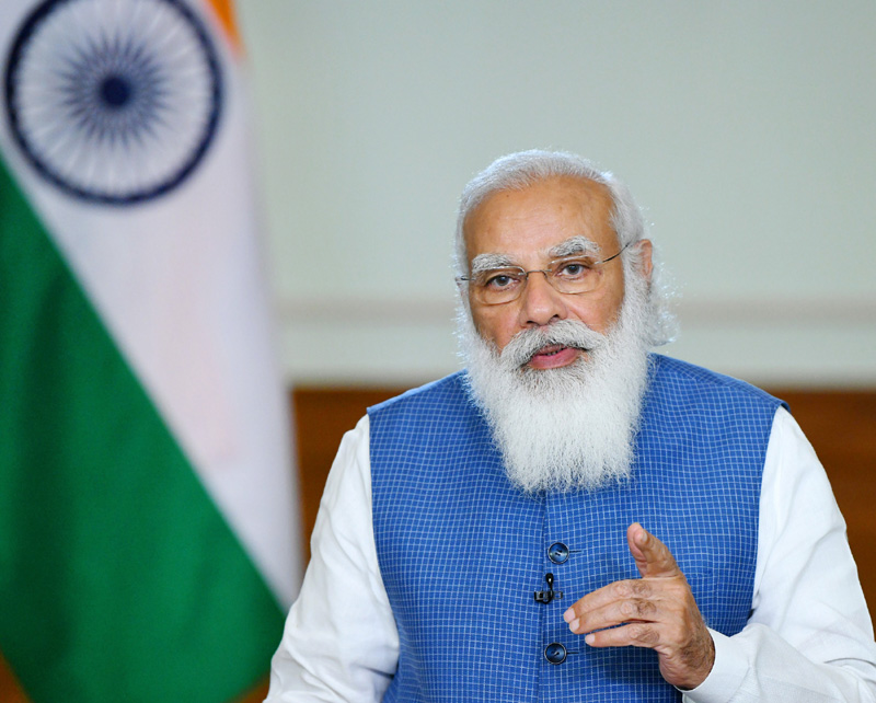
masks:
<svg viewBox="0 0 876 703"><path fill-rule="evenodd" d="M380 701L397 665L399 633L377 562L367 416L341 442L311 554L266 703Z"/></svg>

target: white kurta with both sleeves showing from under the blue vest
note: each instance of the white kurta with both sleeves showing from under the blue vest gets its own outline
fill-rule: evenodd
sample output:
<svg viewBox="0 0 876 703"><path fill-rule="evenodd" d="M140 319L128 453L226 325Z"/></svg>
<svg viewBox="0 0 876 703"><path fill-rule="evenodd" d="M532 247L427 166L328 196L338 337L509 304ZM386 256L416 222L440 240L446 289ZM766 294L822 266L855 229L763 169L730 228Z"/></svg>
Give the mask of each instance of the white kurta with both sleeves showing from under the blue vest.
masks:
<svg viewBox="0 0 876 703"><path fill-rule="evenodd" d="M311 546L267 701L380 701L399 634L374 546L367 416L341 442ZM742 632L712 632L715 665L684 701L876 702L876 644L845 522L784 408L763 469L752 604Z"/></svg>

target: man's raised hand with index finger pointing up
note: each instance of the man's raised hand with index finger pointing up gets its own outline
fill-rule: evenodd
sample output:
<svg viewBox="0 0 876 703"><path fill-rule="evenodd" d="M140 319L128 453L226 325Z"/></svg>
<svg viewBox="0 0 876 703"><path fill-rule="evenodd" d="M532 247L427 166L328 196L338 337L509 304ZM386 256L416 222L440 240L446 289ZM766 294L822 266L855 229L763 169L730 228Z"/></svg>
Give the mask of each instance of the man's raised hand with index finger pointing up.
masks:
<svg viewBox="0 0 876 703"><path fill-rule="evenodd" d="M626 542L642 578L603 586L563 616L572 632L589 633L585 642L591 647L655 649L664 679L694 689L712 670L715 644L688 579L666 544L638 522L626 530Z"/></svg>

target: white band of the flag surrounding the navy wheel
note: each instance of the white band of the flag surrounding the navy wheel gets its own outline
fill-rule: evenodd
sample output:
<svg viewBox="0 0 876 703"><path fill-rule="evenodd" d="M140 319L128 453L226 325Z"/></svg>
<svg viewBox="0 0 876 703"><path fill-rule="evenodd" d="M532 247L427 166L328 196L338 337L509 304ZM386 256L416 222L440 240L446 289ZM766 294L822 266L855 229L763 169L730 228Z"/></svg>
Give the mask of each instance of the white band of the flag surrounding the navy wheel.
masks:
<svg viewBox="0 0 876 703"><path fill-rule="evenodd" d="M3 0L0 47L35 2ZM0 148L47 229L281 604L300 581L287 397L256 251L247 114L222 37L219 131L175 191L88 204Z"/></svg>

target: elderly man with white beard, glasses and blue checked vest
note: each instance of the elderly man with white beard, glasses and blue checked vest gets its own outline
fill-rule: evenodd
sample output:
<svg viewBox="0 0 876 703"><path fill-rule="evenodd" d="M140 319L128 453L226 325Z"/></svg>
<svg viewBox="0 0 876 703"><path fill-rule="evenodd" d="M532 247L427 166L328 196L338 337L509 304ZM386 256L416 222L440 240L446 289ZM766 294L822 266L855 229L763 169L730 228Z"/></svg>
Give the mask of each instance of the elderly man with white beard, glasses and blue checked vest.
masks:
<svg viewBox="0 0 876 703"><path fill-rule="evenodd" d="M825 472L782 403L649 354L626 188L499 159L457 228L466 371L370 408L268 701L874 701Z"/></svg>

